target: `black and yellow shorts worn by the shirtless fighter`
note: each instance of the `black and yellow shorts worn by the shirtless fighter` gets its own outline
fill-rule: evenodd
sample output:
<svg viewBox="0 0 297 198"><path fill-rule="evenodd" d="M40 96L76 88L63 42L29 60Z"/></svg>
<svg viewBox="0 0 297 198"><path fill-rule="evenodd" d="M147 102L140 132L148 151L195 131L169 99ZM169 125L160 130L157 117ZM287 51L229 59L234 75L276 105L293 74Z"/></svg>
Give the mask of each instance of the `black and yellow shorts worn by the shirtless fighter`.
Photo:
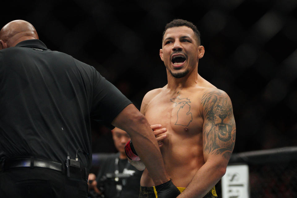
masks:
<svg viewBox="0 0 297 198"><path fill-rule="evenodd" d="M185 188L177 187L180 192ZM144 187L140 186L139 198L157 198L157 191L154 186ZM213 187L203 198L217 198L216 188Z"/></svg>

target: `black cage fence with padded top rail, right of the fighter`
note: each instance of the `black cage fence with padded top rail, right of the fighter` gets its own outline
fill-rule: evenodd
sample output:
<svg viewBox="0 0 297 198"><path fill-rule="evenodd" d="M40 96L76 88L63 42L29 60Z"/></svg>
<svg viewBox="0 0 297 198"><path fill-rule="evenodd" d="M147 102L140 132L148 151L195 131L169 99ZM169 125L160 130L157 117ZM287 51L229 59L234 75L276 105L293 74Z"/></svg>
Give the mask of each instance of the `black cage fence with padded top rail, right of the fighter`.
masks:
<svg viewBox="0 0 297 198"><path fill-rule="evenodd" d="M297 147L234 154L229 165L236 164L249 166L250 198L297 197ZM219 198L220 184L216 185Z"/></svg>

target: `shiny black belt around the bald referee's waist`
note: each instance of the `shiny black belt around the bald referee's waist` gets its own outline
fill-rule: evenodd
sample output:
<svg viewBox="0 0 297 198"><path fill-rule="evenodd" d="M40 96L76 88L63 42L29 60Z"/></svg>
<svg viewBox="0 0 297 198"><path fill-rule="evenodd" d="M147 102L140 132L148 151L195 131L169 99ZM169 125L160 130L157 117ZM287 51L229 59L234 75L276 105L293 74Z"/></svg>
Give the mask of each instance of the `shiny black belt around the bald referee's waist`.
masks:
<svg viewBox="0 0 297 198"><path fill-rule="evenodd" d="M2 162L2 165L0 164L0 171L6 171L9 169L24 168L24 167L48 168L52 170L57 170L62 174L65 174L64 172L66 171L62 163L34 158L34 157L7 158ZM80 171L81 171L81 177L83 179L88 179L87 178L88 170L82 167Z"/></svg>

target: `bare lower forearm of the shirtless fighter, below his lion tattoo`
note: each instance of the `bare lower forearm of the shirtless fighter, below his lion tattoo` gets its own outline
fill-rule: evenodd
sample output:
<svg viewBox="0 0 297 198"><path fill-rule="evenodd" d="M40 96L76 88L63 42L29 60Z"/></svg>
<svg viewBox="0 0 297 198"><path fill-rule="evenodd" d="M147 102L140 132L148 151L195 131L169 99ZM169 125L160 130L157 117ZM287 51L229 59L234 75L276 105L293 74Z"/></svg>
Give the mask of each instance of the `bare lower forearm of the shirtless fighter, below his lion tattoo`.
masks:
<svg viewBox="0 0 297 198"><path fill-rule="evenodd" d="M222 178L226 167L205 163L195 174L186 189L177 198L202 198Z"/></svg>

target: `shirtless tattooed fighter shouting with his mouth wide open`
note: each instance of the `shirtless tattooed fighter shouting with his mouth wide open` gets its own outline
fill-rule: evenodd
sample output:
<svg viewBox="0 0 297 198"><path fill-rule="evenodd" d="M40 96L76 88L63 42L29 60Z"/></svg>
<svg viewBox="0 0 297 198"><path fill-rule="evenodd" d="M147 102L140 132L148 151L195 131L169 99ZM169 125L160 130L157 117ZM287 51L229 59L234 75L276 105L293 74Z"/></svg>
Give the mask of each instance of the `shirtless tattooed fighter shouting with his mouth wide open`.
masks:
<svg viewBox="0 0 297 198"><path fill-rule="evenodd" d="M203 55L195 25L181 19L167 24L160 57L168 84L149 91L140 109L156 129L166 171L182 192L178 198L217 197L214 186L225 174L235 144L229 96L198 74ZM141 168L140 161L132 163ZM139 197L156 197L147 169L140 184Z"/></svg>

